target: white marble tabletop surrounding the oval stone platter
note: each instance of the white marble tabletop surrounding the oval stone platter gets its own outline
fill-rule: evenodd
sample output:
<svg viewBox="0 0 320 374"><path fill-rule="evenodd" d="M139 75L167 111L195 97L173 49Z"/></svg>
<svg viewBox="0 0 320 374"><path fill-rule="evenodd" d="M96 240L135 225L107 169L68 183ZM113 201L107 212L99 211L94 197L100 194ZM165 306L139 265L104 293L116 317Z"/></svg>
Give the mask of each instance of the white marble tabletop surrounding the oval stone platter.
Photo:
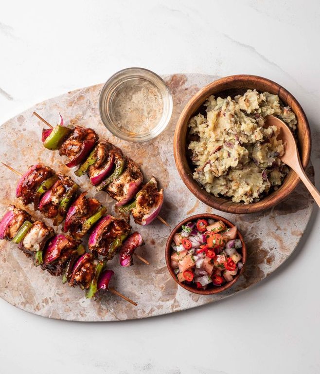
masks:
<svg viewBox="0 0 320 374"><path fill-rule="evenodd" d="M256 74L302 104L319 161L316 1L1 2L0 123L36 102L142 66ZM299 221L299 217L297 217ZM267 281L213 305L115 323L39 318L0 300L0 372L319 373L318 209ZM189 352L193 351L193 354Z"/></svg>

